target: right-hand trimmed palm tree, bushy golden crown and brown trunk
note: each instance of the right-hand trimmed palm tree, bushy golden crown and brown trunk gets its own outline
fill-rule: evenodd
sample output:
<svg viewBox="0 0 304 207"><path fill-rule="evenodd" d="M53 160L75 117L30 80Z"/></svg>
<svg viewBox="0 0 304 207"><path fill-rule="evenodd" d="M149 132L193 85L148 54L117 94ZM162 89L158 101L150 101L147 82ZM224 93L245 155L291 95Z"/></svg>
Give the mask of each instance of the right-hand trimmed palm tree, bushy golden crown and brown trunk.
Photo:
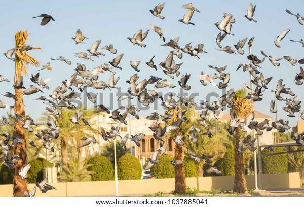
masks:
<svg viewBox="0 0 304 207"><path fill-rule="evenodd" d="M244 119L253 111L252 103L249 99L244 99L247 91L245 89L238 90L232 97L231 101L234 106L230 109L234 112L236 118ZM235 180L234 180L234 191L238 193L247 193L247 182L245 178L244 168L244 157L238 153L239 139L241 137L240 128L237 127L235 130Z"/></svg>

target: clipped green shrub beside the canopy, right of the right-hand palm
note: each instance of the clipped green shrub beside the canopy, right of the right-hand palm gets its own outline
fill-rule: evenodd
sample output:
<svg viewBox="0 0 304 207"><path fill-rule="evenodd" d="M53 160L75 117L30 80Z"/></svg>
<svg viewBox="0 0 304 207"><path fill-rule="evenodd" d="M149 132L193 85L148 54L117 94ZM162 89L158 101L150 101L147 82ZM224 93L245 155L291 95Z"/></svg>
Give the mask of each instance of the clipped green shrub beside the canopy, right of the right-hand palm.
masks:
<svg viewBox="0 0 304 207"><path fill-rule="evenodd" d="M278 152L284 152L284 150L281 147L275 147L273 152L267 149L262 150L263 154L271 154ZM263 174L280 174L280 173L287 173L287 171L288 171L288 159L286 154L262 157Z"/></svg>

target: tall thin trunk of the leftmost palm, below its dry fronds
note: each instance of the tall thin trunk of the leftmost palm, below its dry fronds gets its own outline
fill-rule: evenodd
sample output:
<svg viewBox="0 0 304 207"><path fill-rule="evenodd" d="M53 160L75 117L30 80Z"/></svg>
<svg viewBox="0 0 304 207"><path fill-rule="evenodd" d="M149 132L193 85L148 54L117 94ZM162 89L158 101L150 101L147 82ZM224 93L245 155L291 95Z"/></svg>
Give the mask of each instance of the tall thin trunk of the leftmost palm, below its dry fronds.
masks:
<svg viewBox="0 0 304 207"><path fill-rule="evenodd" d="M21 64L18 61L19 59L16 58L15 63L15 81L21 76ZM20 72L20 73L19 73ZM23 105L23 97L22 97L22 89L15 89L15 95L17 97L17 101L15 101L15 112L16 114L19 114L23 118L25 117L25 111L24 111L24 105ZM18 161L17 164L15 164L15 170L14 170L14 188L13 188L13 195L15 197L24 197L24 191L27 190L27 180L22 179L21 176L19 176L19 172L21 171L22 167L27 162L27 156L26 156L26 142L25 142L25 132L24 128L22 128L21 124L22 122L16 122L15 121L15 127L14 127L14 136L20 138L23 140L23 143L18 143L16 145L16 148L14 150L15 155L20 155L22 159Z"/></svg>

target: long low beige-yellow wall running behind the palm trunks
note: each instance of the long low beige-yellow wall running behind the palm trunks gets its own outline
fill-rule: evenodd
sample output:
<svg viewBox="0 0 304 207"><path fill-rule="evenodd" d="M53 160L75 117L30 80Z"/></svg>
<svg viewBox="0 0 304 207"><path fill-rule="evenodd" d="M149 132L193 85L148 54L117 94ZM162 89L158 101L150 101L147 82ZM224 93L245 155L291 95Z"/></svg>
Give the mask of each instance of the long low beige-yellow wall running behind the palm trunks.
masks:
<svg viewBox="0 0 304 207"><path fill-rule="evenodd" d="M300 188L298 172L289 174L263 175L262 189ZM254 189L254 175L246 176L247 186ZM234 176L186 178L187 186L199 190L223 189L232 190ZM51 183L56 190L41 193L38 189L36 196L112 196L115 194L115 181ZM147 179L118 181L120 195L154 194L160 191L170 193L174 190L174 179ZM31 190L34 184L29 184ZM0 185L0 196L12 196L13 185Z"/></svg>

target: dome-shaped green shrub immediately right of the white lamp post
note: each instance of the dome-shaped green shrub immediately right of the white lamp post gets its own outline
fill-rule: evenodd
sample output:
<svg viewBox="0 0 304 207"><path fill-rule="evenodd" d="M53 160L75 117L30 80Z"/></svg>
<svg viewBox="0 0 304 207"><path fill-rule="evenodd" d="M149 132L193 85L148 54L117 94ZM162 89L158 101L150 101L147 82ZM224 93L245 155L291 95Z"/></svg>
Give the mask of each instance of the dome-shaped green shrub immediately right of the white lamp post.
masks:
<svg viewBox="0 0 304 207"><path fill-rule="evenodd" d="M141 164L133 155L125 154L118 160L118 180L138 180L141 178L141 171Z"/></svg>

